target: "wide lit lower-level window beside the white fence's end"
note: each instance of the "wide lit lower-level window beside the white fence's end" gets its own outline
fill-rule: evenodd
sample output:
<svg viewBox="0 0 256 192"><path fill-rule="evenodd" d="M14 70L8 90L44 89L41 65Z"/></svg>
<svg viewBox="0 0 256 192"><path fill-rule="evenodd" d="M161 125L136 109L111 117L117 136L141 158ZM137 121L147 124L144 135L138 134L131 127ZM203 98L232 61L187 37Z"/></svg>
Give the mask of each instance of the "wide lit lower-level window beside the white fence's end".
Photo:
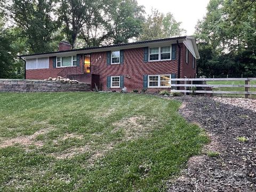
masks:
<svg viewBox="0 0 256 192"><path fill-rule="evenodd" d="M148 75L148 87L170 87L171 75Z"/></svg>

